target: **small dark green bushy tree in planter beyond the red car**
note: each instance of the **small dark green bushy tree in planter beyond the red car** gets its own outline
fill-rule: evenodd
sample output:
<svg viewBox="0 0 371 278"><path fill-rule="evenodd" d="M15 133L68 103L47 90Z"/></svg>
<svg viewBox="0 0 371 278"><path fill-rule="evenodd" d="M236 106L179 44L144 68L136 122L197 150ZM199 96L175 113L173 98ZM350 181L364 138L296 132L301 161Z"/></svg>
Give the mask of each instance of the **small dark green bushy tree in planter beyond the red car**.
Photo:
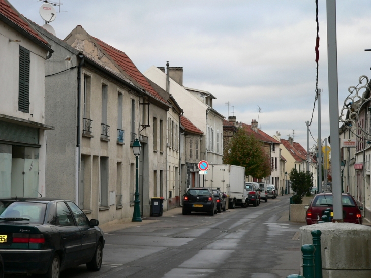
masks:
<svg viewBox="0 0 371 278"><path fill-rule="evenodd" d="M292 169L290 174L291 188L295 192L292 197L294 204L301 204L302 198L313 186L313 175L311 172L298 172Z"/></svg>

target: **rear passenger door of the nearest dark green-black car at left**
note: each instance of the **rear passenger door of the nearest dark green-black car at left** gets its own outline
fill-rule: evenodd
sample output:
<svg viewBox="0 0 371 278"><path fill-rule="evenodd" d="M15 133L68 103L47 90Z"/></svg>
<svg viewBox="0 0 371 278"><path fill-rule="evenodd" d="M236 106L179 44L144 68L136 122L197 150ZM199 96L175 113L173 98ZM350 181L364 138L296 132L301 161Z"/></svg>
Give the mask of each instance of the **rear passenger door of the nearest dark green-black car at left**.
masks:
<svg viewBox="0 0 371 278"><path fill-rule="evenodd" d="M81 231L64 201L57 202L56 224L65 253L63 264L76 264L81 252Z"/></svg>

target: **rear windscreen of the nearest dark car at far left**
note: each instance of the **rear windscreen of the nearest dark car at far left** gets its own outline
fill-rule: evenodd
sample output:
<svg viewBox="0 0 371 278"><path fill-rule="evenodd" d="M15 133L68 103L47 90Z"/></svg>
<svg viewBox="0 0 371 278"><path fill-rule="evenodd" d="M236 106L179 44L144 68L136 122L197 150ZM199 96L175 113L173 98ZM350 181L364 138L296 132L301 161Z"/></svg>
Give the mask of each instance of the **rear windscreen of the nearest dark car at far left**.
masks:
<svg viewBox="0 0 371 278"><path fill-rule="evenodd" d="M46 204L32 202L0 202L0 218L28 218L30 223L43 223ZM0 219L0 221L6 221ZM26 220L24 220L26 221Z"/></svg>

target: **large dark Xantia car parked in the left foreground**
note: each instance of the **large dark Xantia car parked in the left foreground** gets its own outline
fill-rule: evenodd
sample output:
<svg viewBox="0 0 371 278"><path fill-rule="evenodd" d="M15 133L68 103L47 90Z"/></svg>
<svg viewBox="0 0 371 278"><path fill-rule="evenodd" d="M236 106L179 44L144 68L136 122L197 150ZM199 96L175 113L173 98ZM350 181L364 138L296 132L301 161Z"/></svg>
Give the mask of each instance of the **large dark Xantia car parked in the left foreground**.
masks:
<svg viewBox="0 0 371 278"><path fill-rule="evenodd" d="M45 274L85 264L102 265L104 233L68 200L0 199L0 255L5 273Z"/></svg>

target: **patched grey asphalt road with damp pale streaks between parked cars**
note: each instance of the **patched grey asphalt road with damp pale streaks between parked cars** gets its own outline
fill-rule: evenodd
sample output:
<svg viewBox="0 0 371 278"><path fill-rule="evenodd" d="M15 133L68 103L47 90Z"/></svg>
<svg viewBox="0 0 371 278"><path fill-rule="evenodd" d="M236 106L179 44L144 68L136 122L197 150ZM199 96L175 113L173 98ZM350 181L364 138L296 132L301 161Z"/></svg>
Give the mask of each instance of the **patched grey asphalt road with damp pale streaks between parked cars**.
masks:
<svg viewBox="0 0 371 278"><path fill-rule="evenodd" d="M182 215L176 208L146 218L155 220L147 224L106 233L100 271L82 265L61 277L286 278L299 274L304 224L290 223L288 208L288 195L213 217Z"/></svg>

